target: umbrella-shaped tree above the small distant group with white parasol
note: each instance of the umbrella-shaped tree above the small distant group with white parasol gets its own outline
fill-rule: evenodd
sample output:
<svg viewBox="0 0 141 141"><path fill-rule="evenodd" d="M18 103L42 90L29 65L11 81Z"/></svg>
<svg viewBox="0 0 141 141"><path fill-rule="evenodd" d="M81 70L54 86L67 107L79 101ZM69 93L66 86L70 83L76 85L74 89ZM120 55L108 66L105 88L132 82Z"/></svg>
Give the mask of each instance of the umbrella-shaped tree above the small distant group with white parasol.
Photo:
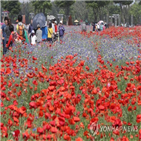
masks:
<svg viewBox="0 0 141 141"><path fill-rule="evenodd" d="M95 20L97 20L97 13L99 12L101 7L108 5L111 0L85 0L88 7L93 9L93 14L95 15Z"/></svg>

